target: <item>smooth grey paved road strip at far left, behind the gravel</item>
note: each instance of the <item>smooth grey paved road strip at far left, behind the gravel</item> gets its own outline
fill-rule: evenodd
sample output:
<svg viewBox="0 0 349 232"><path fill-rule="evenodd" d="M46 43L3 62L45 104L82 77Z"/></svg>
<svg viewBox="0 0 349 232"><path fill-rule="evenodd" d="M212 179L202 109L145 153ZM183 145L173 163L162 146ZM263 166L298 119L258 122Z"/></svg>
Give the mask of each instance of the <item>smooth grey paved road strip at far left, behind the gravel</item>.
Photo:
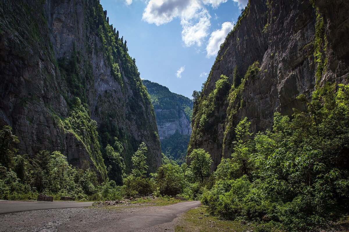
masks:
<svg viewBox="0 0 349 232"><path fill-rule="evenodd" d="M63 209L91 206L93 202L71 201L0 201L0 214L16 213L39 209Z"/></svg>

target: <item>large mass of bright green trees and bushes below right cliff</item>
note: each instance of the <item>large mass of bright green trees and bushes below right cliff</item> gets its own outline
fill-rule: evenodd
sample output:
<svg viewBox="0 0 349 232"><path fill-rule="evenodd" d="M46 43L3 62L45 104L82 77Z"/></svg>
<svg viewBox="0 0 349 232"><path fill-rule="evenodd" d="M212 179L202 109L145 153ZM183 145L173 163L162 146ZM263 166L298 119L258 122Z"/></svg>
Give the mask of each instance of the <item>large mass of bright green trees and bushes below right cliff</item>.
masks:
<svg viewBox="0 0 349 232"><path fill-rule="evenodd" d="M222 160L202 196L210 213L279 222L287 231L313 231L348 213L349 86L298 99L307 111L292 120L275 113L273 130L254 138L240 121L232 159Z"/></svg>

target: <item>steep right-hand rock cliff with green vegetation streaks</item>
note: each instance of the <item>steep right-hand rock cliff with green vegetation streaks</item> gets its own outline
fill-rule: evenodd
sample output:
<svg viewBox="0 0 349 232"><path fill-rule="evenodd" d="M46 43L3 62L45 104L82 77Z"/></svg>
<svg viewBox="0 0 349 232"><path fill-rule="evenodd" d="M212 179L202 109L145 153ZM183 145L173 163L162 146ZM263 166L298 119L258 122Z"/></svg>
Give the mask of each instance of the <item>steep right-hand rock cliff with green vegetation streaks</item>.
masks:
<svg viewBox="0 0 349 232"><path fill-rule="evenodd" d="M221 45L195 99L188 153L208 151L215 169L233 151L244 117L253 133L271 128L274 112L292 115L325 83L348 83L349 2L250 0Z"/></svg>

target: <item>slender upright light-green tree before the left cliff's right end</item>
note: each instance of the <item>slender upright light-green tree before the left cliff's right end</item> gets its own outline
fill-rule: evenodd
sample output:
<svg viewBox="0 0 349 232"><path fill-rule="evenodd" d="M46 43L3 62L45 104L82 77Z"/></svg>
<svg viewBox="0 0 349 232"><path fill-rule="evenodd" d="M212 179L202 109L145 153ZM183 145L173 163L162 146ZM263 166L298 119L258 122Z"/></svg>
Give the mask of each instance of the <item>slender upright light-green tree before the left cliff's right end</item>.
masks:
<svg viewBox="0 0 349 232"><path fill-rule="evenodd" d="M148 148L144 142L139 145L138 150L132 156L132 174L135 177L142 177L147 173L148 166L146 165L146 154Z"/></svg>

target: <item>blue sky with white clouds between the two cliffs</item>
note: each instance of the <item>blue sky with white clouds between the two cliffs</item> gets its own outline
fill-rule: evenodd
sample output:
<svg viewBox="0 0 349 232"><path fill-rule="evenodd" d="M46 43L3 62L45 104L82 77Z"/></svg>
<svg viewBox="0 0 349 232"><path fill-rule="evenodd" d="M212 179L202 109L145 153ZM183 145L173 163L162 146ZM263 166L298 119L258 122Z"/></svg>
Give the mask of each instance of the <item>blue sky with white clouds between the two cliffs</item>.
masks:
<svg viewBox="0 0 349 232"><path fill-rule="evenodd" d="M191 97L247 0L101 0L141 78Z"/></svg>

